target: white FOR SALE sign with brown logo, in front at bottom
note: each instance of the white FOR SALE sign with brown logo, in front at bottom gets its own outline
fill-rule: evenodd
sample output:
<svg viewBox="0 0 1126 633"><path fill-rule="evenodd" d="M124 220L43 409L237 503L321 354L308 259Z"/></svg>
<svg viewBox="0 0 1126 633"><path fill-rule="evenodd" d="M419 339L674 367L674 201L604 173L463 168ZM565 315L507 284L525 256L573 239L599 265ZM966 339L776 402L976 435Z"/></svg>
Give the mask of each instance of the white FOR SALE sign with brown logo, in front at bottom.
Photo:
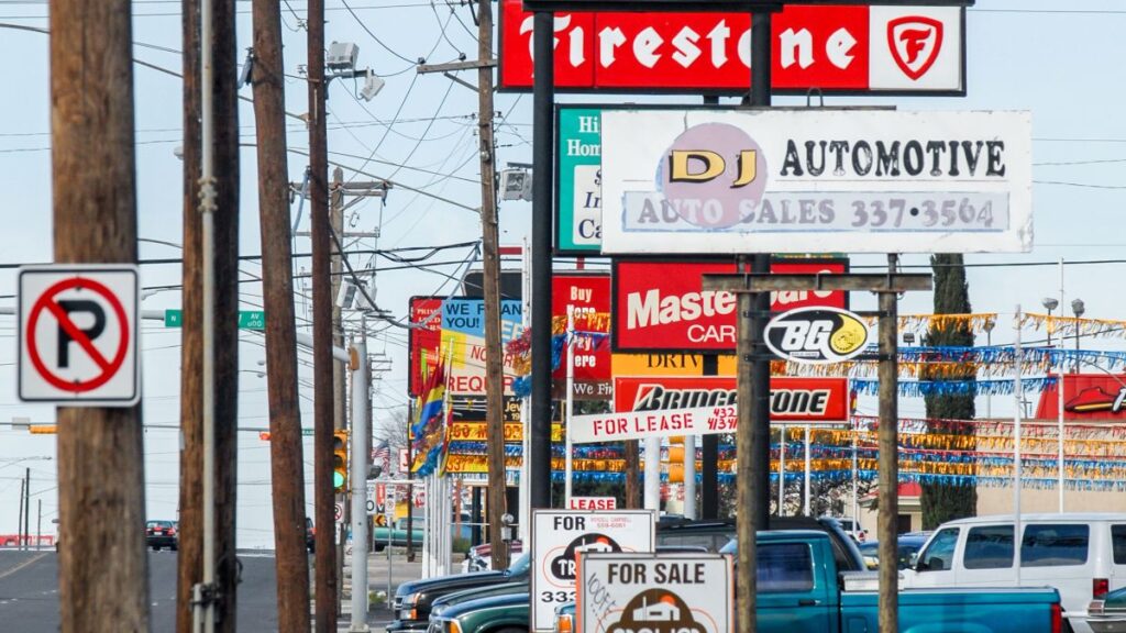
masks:
<svg viewBox="0 0 1126 633"><path fill-rule="evenodd" d="M583 554L575 631L734 631L731 558L722 554Z"/></svg>

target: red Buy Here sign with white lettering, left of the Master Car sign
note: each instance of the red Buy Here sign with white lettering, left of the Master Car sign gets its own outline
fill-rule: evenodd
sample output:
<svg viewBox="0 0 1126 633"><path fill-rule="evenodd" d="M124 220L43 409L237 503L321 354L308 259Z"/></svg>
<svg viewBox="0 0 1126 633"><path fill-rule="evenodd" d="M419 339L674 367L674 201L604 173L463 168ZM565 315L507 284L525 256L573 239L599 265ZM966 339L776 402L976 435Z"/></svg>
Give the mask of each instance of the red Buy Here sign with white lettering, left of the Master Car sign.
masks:
<svg viewBox="0 0 1126 633"><path fill-rule="evenodd" d="M574 307L575 329L609 335L610 276L555 275L552 277L552 316L566 319ZM590 319L587 316L591 315ZM597 316L593 316L597 315ZM579 337L574 348L574 396L580 400L607 400L610 396L610 341ZM565 396L566 356L552 374L555 398Z"/></svg>

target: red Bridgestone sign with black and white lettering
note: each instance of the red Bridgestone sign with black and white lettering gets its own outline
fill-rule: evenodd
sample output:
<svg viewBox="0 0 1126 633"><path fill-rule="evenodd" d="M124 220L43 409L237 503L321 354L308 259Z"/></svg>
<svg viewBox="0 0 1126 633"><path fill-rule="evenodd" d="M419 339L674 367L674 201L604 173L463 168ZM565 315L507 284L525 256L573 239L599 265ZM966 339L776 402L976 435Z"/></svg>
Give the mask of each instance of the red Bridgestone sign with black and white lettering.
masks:
<svg viewBox="0 0 1126 633"><path fill-rule="evenodd" d="M770 421L826 424L848 420L848 380L770 378ZM734 376L615 377L615 411L732 407Z"/></svg>

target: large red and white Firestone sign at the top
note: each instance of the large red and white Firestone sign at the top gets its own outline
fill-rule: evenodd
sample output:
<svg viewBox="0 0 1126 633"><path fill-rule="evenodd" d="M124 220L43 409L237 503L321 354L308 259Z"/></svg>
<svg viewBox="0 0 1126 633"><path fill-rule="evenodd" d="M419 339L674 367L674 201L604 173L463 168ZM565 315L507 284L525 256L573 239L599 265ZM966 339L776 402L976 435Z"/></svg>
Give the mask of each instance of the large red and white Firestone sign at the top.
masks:
<svg viewBox="0 0 1126 633"><path fill-rule="evenodd" d="M501 0L500 88L530 90L531 18ZM787 5L771 20L775 91L965 93L957 7ZM744 12L556 12L555 86L563 91L745 92Z"/></svg>

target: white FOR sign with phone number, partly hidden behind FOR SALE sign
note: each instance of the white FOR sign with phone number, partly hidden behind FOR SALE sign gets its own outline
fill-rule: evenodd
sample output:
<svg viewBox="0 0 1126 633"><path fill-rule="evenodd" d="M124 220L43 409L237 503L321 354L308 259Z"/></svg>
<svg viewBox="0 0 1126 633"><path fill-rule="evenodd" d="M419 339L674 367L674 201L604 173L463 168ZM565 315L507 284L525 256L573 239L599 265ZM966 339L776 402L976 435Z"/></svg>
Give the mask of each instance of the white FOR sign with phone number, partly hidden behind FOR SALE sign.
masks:
<svg viewBox="0 0 1126 633"><path fill-rule="evenodd" d="M653 510L531 511L531 628L551 631L555 607L574 600L575 556L582 552L652 552Z"/></svg>

